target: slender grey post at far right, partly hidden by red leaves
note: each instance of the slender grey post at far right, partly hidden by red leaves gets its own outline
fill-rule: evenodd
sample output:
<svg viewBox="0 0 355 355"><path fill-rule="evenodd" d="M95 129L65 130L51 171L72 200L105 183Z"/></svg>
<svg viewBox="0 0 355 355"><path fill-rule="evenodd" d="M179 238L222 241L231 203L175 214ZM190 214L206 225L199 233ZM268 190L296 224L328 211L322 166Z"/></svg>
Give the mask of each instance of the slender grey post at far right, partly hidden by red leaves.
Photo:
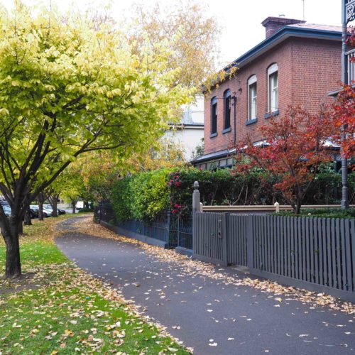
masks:
<svg viewBox="0 0 355 355"><path fill-rule="evenodd" d="M355 19L355 0L342 0L342 82L344 85L349 84L348 61L346 58L347 24L350 21L353 21L354 19ZM342 209L347 209L347 208L349 208L348 160L342 153Z"/></svg>

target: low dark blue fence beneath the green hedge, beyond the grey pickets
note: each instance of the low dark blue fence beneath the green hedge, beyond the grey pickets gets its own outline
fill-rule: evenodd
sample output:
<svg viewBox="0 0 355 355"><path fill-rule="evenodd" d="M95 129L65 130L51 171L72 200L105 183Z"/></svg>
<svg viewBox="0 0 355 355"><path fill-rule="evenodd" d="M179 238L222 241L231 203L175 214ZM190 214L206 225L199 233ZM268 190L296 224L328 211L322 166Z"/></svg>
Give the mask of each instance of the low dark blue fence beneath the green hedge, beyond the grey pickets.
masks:
<svg viewBox="0 0 355 355"><path fill-rule="evenodd" d="M170 211L162 211L149 221L129 219L119 222L110 202L100 203L94 211L94 216L97 221L118 227L121 234L145 236L163 242L168 248L181 246L192 249L192 216L182 218L171 214Z"/></svg>

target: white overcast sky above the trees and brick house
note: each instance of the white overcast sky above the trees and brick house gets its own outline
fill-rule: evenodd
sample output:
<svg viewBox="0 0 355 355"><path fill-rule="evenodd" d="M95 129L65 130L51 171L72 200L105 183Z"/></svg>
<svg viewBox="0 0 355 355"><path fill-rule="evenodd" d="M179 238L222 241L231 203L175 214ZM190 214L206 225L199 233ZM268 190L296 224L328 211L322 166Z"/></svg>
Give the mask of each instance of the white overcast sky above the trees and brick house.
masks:
<svg viewBox="0 0 355 355"><path fill-rule="evenodd" d="M12 1L0 0L9 5ZM37 2L24 0L27 4ZM43 4L50 0L42 0ZM87 4L99 4L99 0L52 0L60 9L72 7L83 9ZM156 0L111 0L112 15L120 18L129 11L133 3L154 4ZM163 4L174 4L174 0L159 0ZM238 58L265 38L261 22L268 16L285 15L289 18L303 18L302 0L200 0L205 4L209 16L216 16L223 31L220 38L221 57L224 65ZM305 20L310 23L341 26L342 0L305 0Z"/></svg>

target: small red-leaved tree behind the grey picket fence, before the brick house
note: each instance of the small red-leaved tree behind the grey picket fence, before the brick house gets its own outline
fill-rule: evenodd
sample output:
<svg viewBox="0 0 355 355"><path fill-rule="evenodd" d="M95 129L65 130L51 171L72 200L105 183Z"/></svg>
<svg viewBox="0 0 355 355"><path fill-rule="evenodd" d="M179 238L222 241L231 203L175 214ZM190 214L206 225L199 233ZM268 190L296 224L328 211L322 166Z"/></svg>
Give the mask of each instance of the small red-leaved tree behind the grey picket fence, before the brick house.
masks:
<svg viewBox="0 0 355 355"><path fill-rule="evenodd" d="M315 180L320 164L332 160L329 137L334 135L334 116L322 107L311 116L299 107L290 107L280 119L270 119L259 129L263 144L253 136L236 146L236 173L258 168L263 178L273 178L273 188L281 192L295 214Z"/></svg>

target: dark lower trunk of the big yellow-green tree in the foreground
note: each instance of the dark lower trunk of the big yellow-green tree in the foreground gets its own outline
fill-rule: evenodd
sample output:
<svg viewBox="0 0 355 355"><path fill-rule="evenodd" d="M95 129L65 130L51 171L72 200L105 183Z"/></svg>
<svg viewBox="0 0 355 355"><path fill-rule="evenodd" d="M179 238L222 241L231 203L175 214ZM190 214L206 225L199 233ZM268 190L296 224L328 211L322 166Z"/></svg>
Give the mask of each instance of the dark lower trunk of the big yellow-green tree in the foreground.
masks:
<svg viewBox="0 0 355 355"><path fill-rule="evenodd" d="M1 228L6 243L5 278L21 275L20 245L18 243L18 222L12 219L6 228Z"/></svg>

